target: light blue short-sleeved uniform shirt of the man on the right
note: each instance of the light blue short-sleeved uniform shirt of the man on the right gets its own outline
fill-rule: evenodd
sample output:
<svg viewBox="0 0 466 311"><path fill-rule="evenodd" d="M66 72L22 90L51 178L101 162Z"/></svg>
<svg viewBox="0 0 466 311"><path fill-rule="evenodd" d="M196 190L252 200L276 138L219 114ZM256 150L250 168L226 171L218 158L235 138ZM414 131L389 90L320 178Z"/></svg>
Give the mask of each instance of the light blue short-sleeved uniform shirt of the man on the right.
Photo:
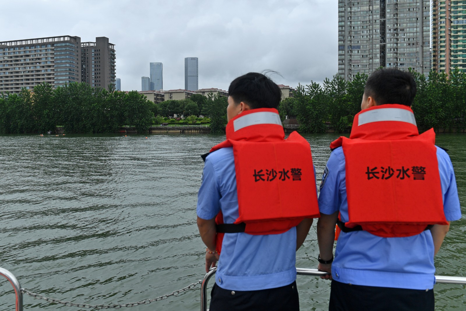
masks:
<svg viewBox="0 0 466 311"><path fill-rule="evenodd" d="M461 218L455 174L450 157L437 147L440 182L446 220ZM365 195L363 190L361 195ZM422 193L413 193L422 196ZM322 214L340 211L348 221L345 157L343 148L332 151L322 177L319 196ZM434 245L430 230L402 238L381 238L367 231L341 232L332 263L333 279L355 285L432 289L434 278Z"/></svg>

